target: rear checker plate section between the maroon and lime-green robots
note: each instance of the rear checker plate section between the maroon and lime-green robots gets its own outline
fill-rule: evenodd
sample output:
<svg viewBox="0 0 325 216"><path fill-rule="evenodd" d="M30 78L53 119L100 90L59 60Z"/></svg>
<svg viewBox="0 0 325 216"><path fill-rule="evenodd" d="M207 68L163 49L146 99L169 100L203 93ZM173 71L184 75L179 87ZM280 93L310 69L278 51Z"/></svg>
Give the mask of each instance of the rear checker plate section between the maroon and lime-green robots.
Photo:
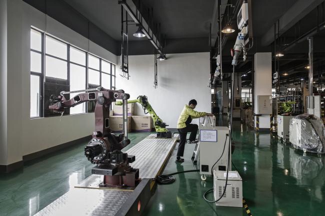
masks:
<svg viewBox="0 0 325 216"><path fill-rule="evenodd" d="M175 138L143 139L126 151L128 155L135 155L135 161L130 164L131 167L139 169L140 178L155 178L175 143Z"/></svg>

